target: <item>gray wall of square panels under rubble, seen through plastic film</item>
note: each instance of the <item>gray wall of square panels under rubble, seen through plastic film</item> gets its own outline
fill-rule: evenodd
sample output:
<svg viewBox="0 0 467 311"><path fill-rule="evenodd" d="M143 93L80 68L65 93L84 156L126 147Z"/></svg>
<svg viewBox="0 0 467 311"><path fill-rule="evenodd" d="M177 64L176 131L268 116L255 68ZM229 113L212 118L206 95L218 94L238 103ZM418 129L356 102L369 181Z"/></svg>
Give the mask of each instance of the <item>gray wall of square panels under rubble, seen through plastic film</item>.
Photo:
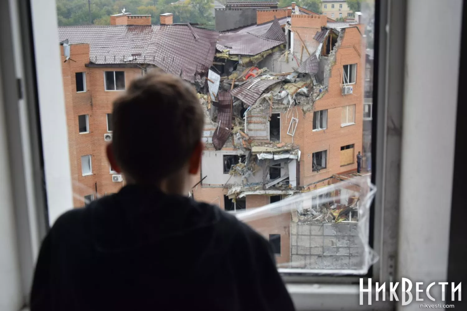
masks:
<svg viewBox="0 0 467 311"><path fill-rule="evenodd" d="M363 252L356 223L290 224L291 268L359 269Z"/></svg>

